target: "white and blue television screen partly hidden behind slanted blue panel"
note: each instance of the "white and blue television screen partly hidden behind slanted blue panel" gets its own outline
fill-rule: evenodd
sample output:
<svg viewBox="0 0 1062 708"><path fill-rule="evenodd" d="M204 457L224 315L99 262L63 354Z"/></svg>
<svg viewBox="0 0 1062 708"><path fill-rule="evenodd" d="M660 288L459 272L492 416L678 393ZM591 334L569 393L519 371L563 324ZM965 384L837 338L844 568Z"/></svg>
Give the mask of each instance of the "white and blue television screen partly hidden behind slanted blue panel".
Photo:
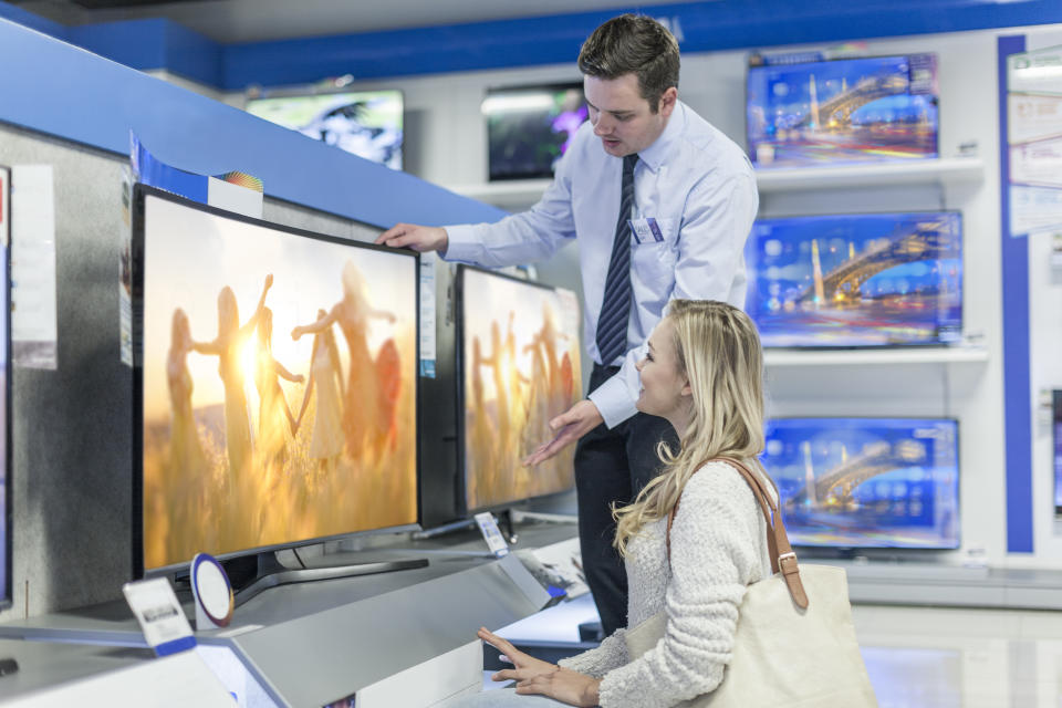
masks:
<svg viewBox="0 0 1062 708"><path fill-rule="evenodd" d="M247 111L358 157L402 169L400 91L251 98Z"/></svg>

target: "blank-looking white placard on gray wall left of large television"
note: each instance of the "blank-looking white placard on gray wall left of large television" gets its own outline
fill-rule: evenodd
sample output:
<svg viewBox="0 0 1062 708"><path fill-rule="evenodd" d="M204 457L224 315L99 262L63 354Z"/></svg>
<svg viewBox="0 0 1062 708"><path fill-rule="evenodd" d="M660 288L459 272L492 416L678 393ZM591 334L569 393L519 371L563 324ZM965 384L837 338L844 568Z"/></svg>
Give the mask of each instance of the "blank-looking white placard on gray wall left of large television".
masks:
<svg viewBox="0 0 1062 708"><path fill-rule="evenodd" d="M11 354L15 366L58 366L55 187L51 165L11 170Z"/></svg>

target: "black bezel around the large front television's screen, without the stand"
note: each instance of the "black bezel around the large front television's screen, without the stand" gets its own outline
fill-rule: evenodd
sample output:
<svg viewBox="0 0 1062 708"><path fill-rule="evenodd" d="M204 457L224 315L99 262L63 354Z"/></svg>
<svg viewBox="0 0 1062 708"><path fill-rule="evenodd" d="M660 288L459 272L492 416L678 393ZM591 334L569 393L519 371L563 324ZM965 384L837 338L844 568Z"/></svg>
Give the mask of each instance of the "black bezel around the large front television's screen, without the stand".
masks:
<svg viewBox="0 0 1062 708"><path fill-rule="evenodd" d="M171 574L187 569L192 559L171 563L158 568L145 568L144 565L144 238L145 238L145 215L144 206L148 197L155 197L192 208L197 211L208 214L215 217L229 219L251 226L267 228L273 231L281 231L290 236L310 238L317 241L348 246L357 249L373 250L379 252L393 253L396 257L414 259L414 326L415 332L420 331L420 254L408 249L395 249L386 246L376 246L364 241L354 241L295 227L289 227L280 223L273 223L262 219L254 219L243 215L226 211L208 205L199 204L179 197L173 192L149 187L144 184L133 186L132 201L132 248L131 248L131 268L132 268L132 301L133 301L133 576L134 579L145 576L156 576ZM416 373L414 375L414 425L419 425L420 419L420 337L414 336L414 346L416 351ZM413 436L413 445L416 447L414 459L415 470L413 486L416 492L416 521L412 523L398 524L394 527L384 527L378 529L364 529L361 531L351 531L346 533L336 533L326 537L314 537L310 539L299 539L285 541L283 543L267 544L251 549L240 549L226 553L214 554L219 560L230 560L235 558L250 556L258 553L280 551L284 549L300 548L326 541L336 541L352 537L372 535L379 533L393 533L402 531L420 530L420 439L418 435Z"/></svg>

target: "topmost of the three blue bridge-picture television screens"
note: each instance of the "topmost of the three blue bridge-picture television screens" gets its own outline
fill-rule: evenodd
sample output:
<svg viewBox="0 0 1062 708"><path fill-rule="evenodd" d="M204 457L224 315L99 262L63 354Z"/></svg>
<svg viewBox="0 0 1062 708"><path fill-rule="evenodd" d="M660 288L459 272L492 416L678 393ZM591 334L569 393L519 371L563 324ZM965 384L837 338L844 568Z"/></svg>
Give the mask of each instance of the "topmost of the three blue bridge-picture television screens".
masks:
<svg viewBox="0 0 1062 708"><path fill-rule="evenodd" d="M761 167L936 157L937 59L750 66L746 111Z"/></svg>

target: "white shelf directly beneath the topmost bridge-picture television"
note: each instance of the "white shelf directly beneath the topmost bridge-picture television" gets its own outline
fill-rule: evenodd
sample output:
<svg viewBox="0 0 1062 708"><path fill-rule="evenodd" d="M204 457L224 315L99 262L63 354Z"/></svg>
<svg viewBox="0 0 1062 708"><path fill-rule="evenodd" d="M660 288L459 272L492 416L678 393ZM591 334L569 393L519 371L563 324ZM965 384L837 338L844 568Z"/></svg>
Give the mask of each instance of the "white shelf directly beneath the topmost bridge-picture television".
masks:
<svg viewBox="0 0 1062 708"><path fill-rule="evenodd" d="M983 174L985 164L979 157L947 157L836 167L758 167L756 184L760 194L768 194L836 187L976 183L983 178Z"/></svg>

